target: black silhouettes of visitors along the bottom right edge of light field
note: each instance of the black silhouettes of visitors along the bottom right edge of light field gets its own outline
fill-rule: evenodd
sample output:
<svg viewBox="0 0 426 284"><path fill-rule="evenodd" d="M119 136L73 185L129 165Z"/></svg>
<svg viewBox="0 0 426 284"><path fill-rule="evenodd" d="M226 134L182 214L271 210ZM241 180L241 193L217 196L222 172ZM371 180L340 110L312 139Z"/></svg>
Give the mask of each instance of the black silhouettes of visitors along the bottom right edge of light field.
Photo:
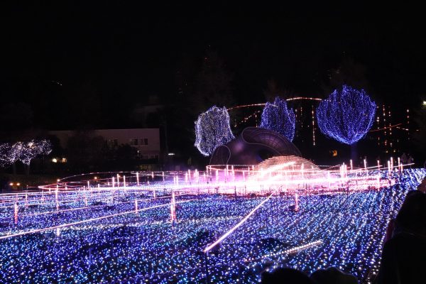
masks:
<svg viewBox="0 0 426 284"><path fill-rule="evenodd" d="M426 178L408 192L395 219L386 230L376 284L426 283ZM356 284L354 275L337 268L315 271L310 276L293 268L262 273L261 283Z"/></svg>

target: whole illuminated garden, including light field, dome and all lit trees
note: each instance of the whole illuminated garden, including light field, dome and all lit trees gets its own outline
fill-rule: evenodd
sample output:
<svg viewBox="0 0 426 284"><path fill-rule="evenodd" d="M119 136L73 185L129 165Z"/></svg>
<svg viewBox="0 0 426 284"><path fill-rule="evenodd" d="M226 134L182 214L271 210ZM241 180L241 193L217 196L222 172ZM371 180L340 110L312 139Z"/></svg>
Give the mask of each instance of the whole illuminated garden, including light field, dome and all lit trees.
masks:
<svg viewBox="0 0 426 284"><path fill-rule="evenodd" d="M278 268L334 267L372 283L388 224L426 171L398 157L317 165L291 142L287 102L263 105L261 127L240 136L225 107L200 114L195 146L211 156L201 170L87 173L1 194L0 282L258 283ZM317 121L352 145L375 111L364 91L343 86ZM29 166L50 143L4 143L1 153Z"/></svg>

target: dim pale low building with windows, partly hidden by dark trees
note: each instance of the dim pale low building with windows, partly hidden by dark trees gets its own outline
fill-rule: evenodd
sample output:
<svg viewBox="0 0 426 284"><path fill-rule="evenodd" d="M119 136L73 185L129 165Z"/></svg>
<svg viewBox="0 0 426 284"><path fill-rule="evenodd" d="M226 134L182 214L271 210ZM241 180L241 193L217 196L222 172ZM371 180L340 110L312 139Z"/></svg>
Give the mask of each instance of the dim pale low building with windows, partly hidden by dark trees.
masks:
<svg viewBox="0 0 426 284"><path fill-rule="evenodd" d="M68 139L77 131L49 131L50 135L58 137L60 146L67 148ZM159 129L95 129L90 131L92 136L102 136L109 146L129 144L136 148L138 157L142 160L160 157L160 130Z"/></svg>

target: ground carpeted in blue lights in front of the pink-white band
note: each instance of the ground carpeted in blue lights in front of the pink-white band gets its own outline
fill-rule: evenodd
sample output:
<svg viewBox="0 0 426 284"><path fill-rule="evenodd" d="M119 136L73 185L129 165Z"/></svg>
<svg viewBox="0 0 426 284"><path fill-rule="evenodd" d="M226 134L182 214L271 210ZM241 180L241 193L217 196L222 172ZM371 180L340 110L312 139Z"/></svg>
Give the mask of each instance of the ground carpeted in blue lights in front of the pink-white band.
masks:
<svg viewBox="0 0 426 284"><path fill-rule="evenodd" d="M262 271L277 267L312 273L330 266L368 283L378 271L389 219L424 176L424 170L405 170L397 184L381 190L300 196L298 212L289 209L294 197L272 197L207 258L206 246L265 197L178 196L174 227L170 198L143 193L136 196L138 212L129 214L119 213L135 209L129 202L135 196L88 207L70 202L48 214L40 213L54 211L54 203L30 202L20 207L17 224L13 209L1 207L0 237L116 216L0 239L0 283L203 283L206 261L213 283L257 283ZM84 209L67 211L73 207Z"/></svg>

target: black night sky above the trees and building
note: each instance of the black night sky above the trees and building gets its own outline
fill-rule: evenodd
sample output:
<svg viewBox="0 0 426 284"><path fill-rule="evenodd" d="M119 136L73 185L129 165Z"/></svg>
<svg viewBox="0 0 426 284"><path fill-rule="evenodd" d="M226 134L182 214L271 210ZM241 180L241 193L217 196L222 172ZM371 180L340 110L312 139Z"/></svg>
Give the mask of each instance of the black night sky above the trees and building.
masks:
<svg viewBox="0 0 426 284"><path fill-rule="evenodd" d="M94 109L102 117L114 109L125 113L149 94L175 95L182 58L200 59L207 49L216 50L234 75L241 103L263 102L271 78L295 94L320 97L329 70L343 58L364 65L368 90L380 101L415 106L426 94L419 7L130 2L1 9L4 104L28 104L41 126L53 109L67 109L67 116L89 111L76 103L86 94L96 93L91 105L99 104Z"/></svg>

